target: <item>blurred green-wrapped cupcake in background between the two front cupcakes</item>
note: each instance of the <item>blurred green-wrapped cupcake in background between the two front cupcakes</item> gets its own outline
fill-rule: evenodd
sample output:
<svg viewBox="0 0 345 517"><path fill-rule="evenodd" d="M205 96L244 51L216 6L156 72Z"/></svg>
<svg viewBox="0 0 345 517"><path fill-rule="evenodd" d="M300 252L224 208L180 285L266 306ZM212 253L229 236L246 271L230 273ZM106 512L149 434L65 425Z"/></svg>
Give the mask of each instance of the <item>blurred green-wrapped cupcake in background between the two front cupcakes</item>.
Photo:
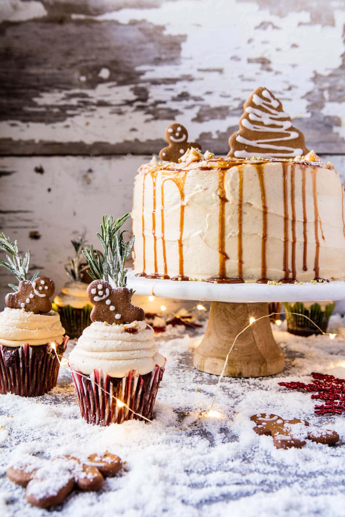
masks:
<svg viewBox="0 0 345 517"><path fill-rule="evenodd" d="M53 309L59 313L68 336L79 338L84 328L91 324L92 304L86 296L87 285L82 281L83 273L88 267L81 264L84 239L79 237L71 242L76 253L73 258L68 257L68 264L65 265L69 282L66 282L62 292L55 296Z"/></svg>

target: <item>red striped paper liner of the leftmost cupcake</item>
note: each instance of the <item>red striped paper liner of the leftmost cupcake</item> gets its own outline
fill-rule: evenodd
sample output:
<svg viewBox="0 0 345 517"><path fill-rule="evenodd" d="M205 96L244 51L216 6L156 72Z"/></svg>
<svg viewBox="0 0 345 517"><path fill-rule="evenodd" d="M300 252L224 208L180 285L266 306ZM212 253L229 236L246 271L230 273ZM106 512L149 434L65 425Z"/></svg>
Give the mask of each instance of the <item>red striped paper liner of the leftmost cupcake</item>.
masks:
<svg viewBox="0 0 345 517"><path fill-rule="evenodd" d="M61 360L69 340L59 345L54 341ZM21 397L38 397L50 391L57 382L60 363L51 344L19 347L0 345L0 393Z"/></svg>

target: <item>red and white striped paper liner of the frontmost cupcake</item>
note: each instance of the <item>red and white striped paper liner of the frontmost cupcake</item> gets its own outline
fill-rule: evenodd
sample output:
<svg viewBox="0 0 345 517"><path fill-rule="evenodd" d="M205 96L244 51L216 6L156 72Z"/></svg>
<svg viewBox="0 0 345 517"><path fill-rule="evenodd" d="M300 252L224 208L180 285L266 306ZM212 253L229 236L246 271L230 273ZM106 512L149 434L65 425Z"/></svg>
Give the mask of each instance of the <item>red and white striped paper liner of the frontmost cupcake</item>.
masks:
<svg viewBox="0 0 345 517"><path fill-rule="evenodd" d="M140 375L131 370L126 377L110 377L103 371L94 370L90 375L72 371L82 418L88 423L109 425L125 420L142 420L138 413L151 419L157 391L164 368L156 364L154 370ZM119 407L116 399L126 406Z"/></svg>

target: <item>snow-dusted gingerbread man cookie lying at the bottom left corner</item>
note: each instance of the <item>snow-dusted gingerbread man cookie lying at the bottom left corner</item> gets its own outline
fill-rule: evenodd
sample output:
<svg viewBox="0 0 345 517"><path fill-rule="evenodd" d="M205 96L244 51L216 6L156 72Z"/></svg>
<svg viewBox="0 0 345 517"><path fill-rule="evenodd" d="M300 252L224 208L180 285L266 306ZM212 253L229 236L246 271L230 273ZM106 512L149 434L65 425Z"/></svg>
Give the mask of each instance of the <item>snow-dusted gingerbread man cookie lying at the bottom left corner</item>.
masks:
<svg viewBox="0 0 345 517"><path fill-rule="evenodd" d="M72 456L51 461L35 458L33 463L10 467L7 477L20 486L26 486L28 503L49 508L62 503L74 486L88 492L99 490L104 477L115 476L121 468L121 459L107 452L102 456L91 454L84 462Z"/></svg>

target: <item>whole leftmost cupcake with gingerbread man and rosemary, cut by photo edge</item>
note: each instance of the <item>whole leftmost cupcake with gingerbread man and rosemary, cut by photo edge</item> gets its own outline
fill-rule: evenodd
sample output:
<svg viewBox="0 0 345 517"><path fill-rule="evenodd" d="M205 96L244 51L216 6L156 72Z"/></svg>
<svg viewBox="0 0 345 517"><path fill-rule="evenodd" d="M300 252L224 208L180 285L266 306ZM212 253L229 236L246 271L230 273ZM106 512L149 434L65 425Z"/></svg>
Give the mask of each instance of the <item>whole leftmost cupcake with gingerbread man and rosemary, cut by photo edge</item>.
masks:
<svg viewBox="0 0 345 517"><path fill-rule="evenodd" d="M53 280L39 277L38 271L27 280L30 252L22 258L17 241L4 234L0 249L12 255L0 265L19 280L19 285L9 284L14 293L6 295L7 307L0 312L0 393L36 397L56 385L68 337L49 299L55 290Z"/></svg>

